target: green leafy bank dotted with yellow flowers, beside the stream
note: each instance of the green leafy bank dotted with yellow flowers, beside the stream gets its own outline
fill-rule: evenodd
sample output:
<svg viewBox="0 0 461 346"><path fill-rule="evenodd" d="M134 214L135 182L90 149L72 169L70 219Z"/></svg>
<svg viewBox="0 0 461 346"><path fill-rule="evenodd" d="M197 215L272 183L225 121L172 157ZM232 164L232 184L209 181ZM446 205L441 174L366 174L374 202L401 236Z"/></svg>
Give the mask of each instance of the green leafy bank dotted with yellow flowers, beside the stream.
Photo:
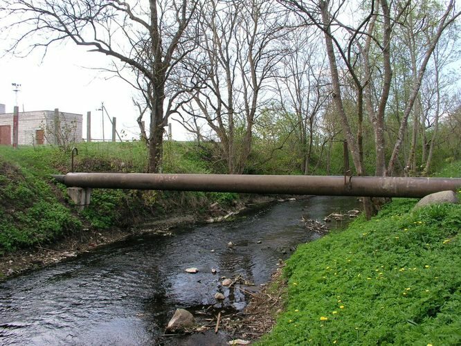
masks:
<svg viewBox="0 0 461 346"><path fill-rule="evenodd" d="M461 345L461 206L414 205L300 246L286 311L260 343Z"/></svg>

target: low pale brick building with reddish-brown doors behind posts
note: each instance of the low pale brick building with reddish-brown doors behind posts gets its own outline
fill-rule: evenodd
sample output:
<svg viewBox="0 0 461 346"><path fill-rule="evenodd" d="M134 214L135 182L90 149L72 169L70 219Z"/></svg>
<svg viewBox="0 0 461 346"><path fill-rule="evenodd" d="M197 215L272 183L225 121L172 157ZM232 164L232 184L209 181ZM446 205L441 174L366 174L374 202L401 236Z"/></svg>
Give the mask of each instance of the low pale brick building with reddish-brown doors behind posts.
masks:
<svg viewBox="0 0 461 346"><path fill-rule="evenodd" d="M13 143L13 113L0 113L0 145ZM82 114L58 111L19 112L18 145L62 144L82 141ZM57 129L57 131L55 131Z"/></svg>

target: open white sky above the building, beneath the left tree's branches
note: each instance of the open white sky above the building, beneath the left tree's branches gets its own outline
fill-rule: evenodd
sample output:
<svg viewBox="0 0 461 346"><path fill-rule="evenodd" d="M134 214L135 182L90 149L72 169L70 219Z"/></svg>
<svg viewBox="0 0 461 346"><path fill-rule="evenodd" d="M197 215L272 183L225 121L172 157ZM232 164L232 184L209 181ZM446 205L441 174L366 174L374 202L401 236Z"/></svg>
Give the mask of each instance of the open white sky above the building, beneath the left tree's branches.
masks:
<svg viewBox="0 0 461 346"><path fill-rule="evenodd" d="M0 52L7 48L0 42ZM0 53L0 56L1 56ZM100 109L104 102L109 116L117 118L117 130L124 129L124 139L139 138L137 109L132 102L134 90L119 78L87 69L108 66L111 60L100 53L90 53L71 42L66 46L51 46L42 62L37 51L25 58L0 57L0 103L10 113L15 106L12 83L21 84L18 93L19 111L60 111L83 115L83 137L87 138L87 111L91 111L91 137L102 138ZM108 79L109 78L109 79ZM145 114L146 125L149 123ZM174 140L186 140L190 135L181 125L172 122ZM105 138L111 138L111 125L105 115Z"/></svg>

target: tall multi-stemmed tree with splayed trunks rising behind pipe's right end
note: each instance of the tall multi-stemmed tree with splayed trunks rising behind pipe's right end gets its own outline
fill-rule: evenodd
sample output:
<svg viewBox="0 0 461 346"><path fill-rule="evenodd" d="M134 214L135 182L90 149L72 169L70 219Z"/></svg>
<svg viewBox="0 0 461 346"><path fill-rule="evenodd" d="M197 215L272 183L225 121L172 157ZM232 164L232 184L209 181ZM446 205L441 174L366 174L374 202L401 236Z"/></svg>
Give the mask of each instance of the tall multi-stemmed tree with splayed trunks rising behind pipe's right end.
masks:
<svg viewBox="0 0 461 346"><path fill-rule="evenodd" d="M399 133L397 134L397 140L395 141L387 169L385 165L386 145L384 143L384 124L386 106L392 83L392 69L390 64L392 32L395 30L395 26L401 21L401 18L408 15L408 11L411 10L409 6L410 1L399 1L395 5L395 8L393 8L393 11L387 0L372 1L370 8L365 8L364 11L356 11L363 12L363 19L356 24L343 23L338 17L338 14L343 12L347 6L352 5L347 1L321 0L316 2L282 0L282 3L298 13L305 25L316 26L324 34L332 79L333 100L336 112L341 120L343 135L350 145L356 173L358 175L365 174L362 127L364 116L363 104L365 102L368 116L374 125L374 144L377 148L376 174L379 176L392 174L397 155L401 149L408 116L413 109L419 93L419 87L421 86L421 80L426 71L428 60L442 32L460 15L459 12L452 13L454 8L453 0L446 5L444 12L440 13L440 17L438 17L439 19L435 23L435 35L431 37L431 40L424 48L424 58L413 80L411 93L406 103L404 116L401 120ZM379 58L371 60L370 52L373 52ZM340 70L338 66L344 66L344 69ZM379 71L379 75L372 73L373 70ZM379 78L379 82L374 81L374 84L381 84L381 91L375 89L373 92L370 83L372 82L372 78L376 77ZM350 118L345 112L345 104L343 102L343 84L347 83L347 80L352 81L350 84L356 90L356 118L358 123L356 136L352 132ZM372 96L373 93L374 97ZM374 104L377 104L377 106ZM376 212L374 203L369 203L367 199L363 199L363 201L367 215L373 215Z"/></svg>

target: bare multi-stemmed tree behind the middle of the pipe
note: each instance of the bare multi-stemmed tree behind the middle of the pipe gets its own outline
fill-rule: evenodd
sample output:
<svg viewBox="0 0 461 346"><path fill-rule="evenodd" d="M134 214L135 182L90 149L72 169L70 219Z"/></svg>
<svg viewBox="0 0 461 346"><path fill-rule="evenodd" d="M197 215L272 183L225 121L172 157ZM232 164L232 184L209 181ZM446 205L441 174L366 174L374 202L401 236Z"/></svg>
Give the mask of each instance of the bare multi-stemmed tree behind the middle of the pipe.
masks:
<svg viewBox="0 0 461 346"><path fill-rule="evenodd" d="M193 103L185 104L183 111L188 120L206 122L217 136L230 174L242 173L251 154L253 125L267 107L262 101L264 89L285 51L278 42L284 19L274 1L212 0L202 11L200 48L201 61L208 64L203 75L206 87L191 92ZM197 126L190 125L188 129L197 134Z"/></svg>

